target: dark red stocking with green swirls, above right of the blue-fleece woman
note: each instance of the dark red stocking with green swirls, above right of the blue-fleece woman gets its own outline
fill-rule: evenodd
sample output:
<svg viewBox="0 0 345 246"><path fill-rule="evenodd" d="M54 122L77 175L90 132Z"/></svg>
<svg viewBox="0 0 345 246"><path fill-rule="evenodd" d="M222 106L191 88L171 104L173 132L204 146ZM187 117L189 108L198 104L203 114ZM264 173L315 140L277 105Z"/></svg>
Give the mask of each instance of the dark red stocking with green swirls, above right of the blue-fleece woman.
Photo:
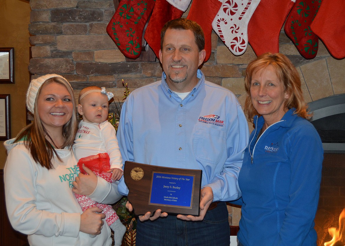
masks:
<svg viewBox="0 0 345 246"><path fill-rule="evenodd" d="M286 22L284 31L306 59L316 57L318 37L310 29L322 0L297 0Z"/></svg>

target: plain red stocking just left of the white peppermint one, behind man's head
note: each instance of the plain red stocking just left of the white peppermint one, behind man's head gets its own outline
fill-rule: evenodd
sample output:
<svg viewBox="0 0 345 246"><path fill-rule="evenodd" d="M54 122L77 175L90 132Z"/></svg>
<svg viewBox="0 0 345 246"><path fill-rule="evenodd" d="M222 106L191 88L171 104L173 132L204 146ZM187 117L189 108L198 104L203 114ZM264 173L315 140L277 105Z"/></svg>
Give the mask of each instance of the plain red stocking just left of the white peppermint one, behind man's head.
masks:
<svg viewBox="0 0 345 246"><path fill-rule="evenodd" d="M198 23L204 31L206 50L204 61L207 61L211 55L212 21L220 6L221 2L219 0L194 0L187 16L187 19Z"/></svg>

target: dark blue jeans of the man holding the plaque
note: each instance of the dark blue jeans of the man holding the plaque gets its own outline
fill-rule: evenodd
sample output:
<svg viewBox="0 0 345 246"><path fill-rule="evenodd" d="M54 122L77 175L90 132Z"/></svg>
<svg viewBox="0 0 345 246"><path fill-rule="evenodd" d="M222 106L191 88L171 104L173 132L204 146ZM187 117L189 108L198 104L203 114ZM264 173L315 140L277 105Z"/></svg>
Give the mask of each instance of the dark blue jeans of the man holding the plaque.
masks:
<svg viewBox="0 0 345 246"><path fill-rule="evenodd" d="M137 224L136 245L229 246L230 227L225 202L208 210L204 220L181 221L174 215Z"/></svg>

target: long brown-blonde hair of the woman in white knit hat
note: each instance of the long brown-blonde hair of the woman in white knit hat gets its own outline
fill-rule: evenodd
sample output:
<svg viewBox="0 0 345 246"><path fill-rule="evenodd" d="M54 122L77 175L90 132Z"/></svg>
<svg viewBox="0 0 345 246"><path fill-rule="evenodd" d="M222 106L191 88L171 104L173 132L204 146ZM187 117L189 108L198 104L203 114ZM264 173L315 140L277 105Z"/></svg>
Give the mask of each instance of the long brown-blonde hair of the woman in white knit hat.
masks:
<svg viewBox="0 0 345 246"><path fill-rule="evenodd" d="M37 108L37 98L44 85L54 82L64 85L71 95L73 113L71 119L62 127L62 136L64 137L65 141L63 142L61 148L69 146L70 150L72 150L72 144L74 142L78 127L77 116L75 111L76 103L71 86L68 84L66 80L60 77L50 78L42 84L42 86L38 90L34 103L33 122L30 123L28 126L24 127L14 140L14 142L24 140L24 144L30 151L33 160L39 163L42 167L46 167L47 169L54 168L51 161L54 154L56 154L59 161L61 161L61 158L55 151L54 147L45 137L47 136L52 141L51 137L49 136L47 130L43 126L41 119L39 117Z"/></svg>

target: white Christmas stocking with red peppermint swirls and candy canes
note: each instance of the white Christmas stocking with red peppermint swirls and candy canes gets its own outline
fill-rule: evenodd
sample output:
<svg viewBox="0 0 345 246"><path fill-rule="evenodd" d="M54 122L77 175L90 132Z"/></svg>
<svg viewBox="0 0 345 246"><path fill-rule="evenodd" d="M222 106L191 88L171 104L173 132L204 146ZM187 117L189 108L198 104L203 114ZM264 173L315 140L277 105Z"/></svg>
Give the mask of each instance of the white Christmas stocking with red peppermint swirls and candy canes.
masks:
<svg viewBox="0 0 345 246"><path fill-rule="evenodd" d="M247 26L260 0L224 0L212 22L213 30L234 55L248 45Z"/></svg>

